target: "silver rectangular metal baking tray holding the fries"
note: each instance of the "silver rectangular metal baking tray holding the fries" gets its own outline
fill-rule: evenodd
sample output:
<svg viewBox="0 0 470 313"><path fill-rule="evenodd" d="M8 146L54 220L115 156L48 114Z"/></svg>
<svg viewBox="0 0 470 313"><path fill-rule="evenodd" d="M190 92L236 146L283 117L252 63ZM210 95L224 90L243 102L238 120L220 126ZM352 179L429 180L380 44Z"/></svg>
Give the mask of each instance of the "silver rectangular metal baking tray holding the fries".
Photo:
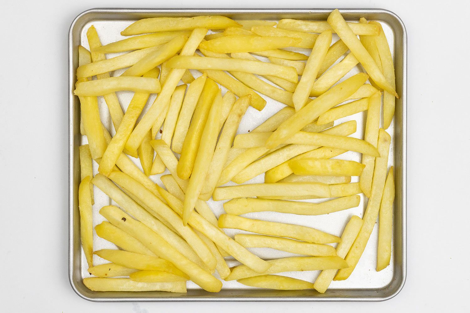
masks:
<svg viewBox="0 0 470 313"><path fill-rule="evenodd" d="M78 66L77 47L86 42L86 30L94 25L100 35L103 44L122 38L119 32L135 20L158 16L196 16L196 15L226 15L233 19L265 19L279 20L282 18L294 18L305 20L326 20L332 9L109 9L96 8L78 15L71 24L69 32L69 152L70 152L70 177L69 177L69 278L75 292L82 298L91 301L381 301L394 297L402 289L406 278L406 104L407 104L407 34L405 26L394 13L384 9L341 9L346 20L357 21L360 17L368 20L376 20L382 23L392 56L395 62L396 87L400 99L396 101L395 118L388 132L392 135L392 151L389 165L395 167L396 198L394 203L394 237L392 244L392 261L389 267L376 272L376 245L377 229L370 237L369 243L360 259L360 262L352 275L346 281L332 282L329 290L320 294L314 290L266 290L246 287L236 281L223 282L224 286L218 293L209 293L201 290L197 285L188 282L188 293L173 294L169 292L93 292L88 290L82 282L87 272L85 256L80 246L79 214L78 214L78 184L80 180L80 167L78 160L78 146L86 143L86 137L82 137L79 131L80 112L78 97L72 93L75 84L75 70ZM336 36L336 35L335 35ZM337 39L337 37L336 37ZM113 55L110 55L113 56ZM355 74L360 69L353 69L348 76ZM119 75L116 71L114 75ZM196 75L196 72L193 74ZM132 94L118 92L121 104L129 103ZM264 96L263 96L264 97ZM264 97L267 101L266 108L258 112L249 108L243 117L239 132L252 130L259 123L266 120L283 107L277 101ZM102 101L102 99L100 100ZM150 99L149 101L152 101ZM104 102L100 102L102 122L111 130L110 118ZM360 137L363 134L364 114L359 113L345 118L358 121L358 130L355 133ZM341 121L340 122L344 122ZM345 158L360 160L356 153L347 153ZM138 162L136 163L138 164ZM94 164L96 166L96 164ZM140 164L138 164L140 166ZM96 171L96 168L94 168ZM166 173L165 173L166 174ZM155 182L159 182L158 176L152 176ZM262 177L255 177L250 182L260 182ZM109 205L112 201L97 188L94 189L94 223L103 221L98 214L101 206ZM362 196L362 195L361 195ZM294 214L280 214L273 212L251 213L249 217L261 218L268 221L282 221L312 226L340 235L345 223L353 215L362 216L364 201L357 208L320 215L298 216ZM209 201L209 205L216 215L223 213L222 203ZM240 230L227 229L227 235L233 236ZM94 235L95 250L112 248L113 245ZM115 248L115 247L114 247ZM265 259L286 257L290 254L272 249L250 249L258 256ZM96 265L105 263L104 260L94 256ZM235 260L227 259L229 266L237 265ZM296 278L314 281L318 271L285 273Z"/></svg>

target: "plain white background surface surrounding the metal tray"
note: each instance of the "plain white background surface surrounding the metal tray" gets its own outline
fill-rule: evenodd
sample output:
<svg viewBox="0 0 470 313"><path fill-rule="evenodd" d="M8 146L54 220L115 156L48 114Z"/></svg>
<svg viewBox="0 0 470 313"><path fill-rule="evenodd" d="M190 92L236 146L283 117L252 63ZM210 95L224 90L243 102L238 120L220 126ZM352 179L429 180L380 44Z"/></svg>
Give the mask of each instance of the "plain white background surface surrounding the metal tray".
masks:
<svg viewBox="0 0 470 313"><path fill-rule="evenodd" d="M386 8L408 33L408 275L381 303L91 303L67 276L67 34L93 7ZM3 312L463 312L470 308L468 1L6 1L0 12Z"/></svg>

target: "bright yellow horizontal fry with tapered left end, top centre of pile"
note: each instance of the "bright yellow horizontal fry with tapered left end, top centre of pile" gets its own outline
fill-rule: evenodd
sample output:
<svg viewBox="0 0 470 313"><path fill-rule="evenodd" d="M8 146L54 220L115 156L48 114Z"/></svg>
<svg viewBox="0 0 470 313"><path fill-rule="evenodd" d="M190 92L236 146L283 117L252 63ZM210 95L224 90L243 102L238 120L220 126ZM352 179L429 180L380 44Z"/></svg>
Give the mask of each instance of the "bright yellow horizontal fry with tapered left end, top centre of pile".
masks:
<svg viewBox="0 0 470 313"><path fill-rule="evenodd" d="M277 48L297 46L302 39L289 37L260 37L250 35L226 35L224 37L204 41L201 48L217 52L250 52L263 51Z"/></svg>

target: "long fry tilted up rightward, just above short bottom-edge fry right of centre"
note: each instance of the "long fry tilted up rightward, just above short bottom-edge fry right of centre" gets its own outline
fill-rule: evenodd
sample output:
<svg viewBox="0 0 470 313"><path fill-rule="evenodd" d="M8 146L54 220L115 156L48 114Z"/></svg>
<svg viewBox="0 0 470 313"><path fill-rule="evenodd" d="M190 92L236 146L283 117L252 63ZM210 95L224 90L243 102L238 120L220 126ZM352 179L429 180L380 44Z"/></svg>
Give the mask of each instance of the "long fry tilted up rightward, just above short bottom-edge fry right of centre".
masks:
<svg viewBox="0 0 470 313"><path fill-rule="evenodd" d="M337 256L329 257L290 257L268 261L271 264L264 273L257 273L250 268L239 265L232 268L232 272L225 279L232 281L235 279L248 278L259 275L268 275L282 272L296 271L316 271L321 269L337 269L347 267L345 260Z"/></svg>

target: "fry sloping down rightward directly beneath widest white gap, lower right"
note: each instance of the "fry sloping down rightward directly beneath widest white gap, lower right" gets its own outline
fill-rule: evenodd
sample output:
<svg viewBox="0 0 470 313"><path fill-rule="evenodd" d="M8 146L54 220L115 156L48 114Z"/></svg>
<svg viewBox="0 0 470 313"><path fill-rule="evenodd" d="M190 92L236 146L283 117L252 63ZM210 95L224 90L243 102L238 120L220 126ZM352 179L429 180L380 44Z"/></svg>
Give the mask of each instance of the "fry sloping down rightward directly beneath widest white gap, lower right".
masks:
<svg viewBox="0 0 470 313"><path fill-rule="evenodd" d="M219 227L242 229L264 235L289 237L316 244L339 242L339 237L325 233L318 229L300 225L248 219L231 214L220 215Z"/></svg>

